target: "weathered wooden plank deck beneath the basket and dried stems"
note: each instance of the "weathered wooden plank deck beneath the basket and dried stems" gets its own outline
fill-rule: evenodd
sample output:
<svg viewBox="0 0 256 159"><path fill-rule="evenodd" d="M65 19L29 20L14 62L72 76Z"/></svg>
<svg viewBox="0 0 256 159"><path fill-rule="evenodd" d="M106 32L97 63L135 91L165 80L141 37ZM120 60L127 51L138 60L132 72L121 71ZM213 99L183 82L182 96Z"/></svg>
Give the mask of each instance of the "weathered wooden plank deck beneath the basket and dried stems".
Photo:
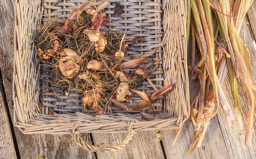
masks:
<svg viewBox="0 0 256 159"><path fill-rule="evenodd" d="M171 145L177 130L161 130L162 141L156 131L138 132L123 149L113 153L92 153L80 148L69 135L23 135L13 127L12 76L13 76L13 34L14 0L0 1L0 158L186 158L189 144L195 134L191 121L187 121L178 142ZM241 37L251 54L252 78L256 81L256 2L254 1L241 29ZM242 81L239 83L239 95L244 119L248 112L248 101ZM190 94L195 94L196 83L190 84ZM194 89L193 89L194 88ZM230 96L230 94L229 94ZM229 98L230 103L233 101ZM234 112L234 111L233 111ZM239 131L237 121L233 127L226 125L225 114L219 110L210 120L201 147L193 149L187 158L256 158L256 117L251 146L244 146L245 132ZM96 145L116 144L125 134L83 134L86 142Z"/></svg>

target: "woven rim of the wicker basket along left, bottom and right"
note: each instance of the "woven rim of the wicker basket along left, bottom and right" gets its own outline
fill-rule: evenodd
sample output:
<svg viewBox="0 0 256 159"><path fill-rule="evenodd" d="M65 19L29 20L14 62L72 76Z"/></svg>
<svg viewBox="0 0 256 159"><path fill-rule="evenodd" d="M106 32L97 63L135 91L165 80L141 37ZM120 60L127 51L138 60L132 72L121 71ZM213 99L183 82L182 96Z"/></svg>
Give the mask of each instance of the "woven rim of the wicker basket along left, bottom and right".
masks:
<svg viewBox="0 0 256 159"><path fill-rule="evenodd" d="M49 1L49 0L48 0ZM158 1L158 0L157 0ZM159 0L160 1L160 0ZM167 3L172 3L172 2L167 2L163 0L163 8L166 7ZM34 4L38 5L37 7L34 7L33 10L39 10L42 11L40 0L36 0ZM178 3L177 5L182 5L183 3ZM19 6L21 4L15 3L16 8L22 7ZM184 4L183 4L184 5ZM183 8L182 8L183 7ZM186 12L186 7L182 6L180 7L183 9L183 12ZM31 9L32 10L32 9ZM163 9L164 10L164 9ZM165 11L166 12L166 11ZM170 12L170 11L169 11ZM42 14L36 14L34 13L35 16L40 16L42 17ZM166 15L163 15L166 16ZM184 17L184 15L180 15L181 17ZM37 23L40 19L37 17L36 20L33 20L33 24ZM183 100L186 100L187 104L180 105L180 109L182 109L184 114L180 114L179 117L173 117L170 116L168 113L163 112L160 114L156 115L156 119L153 121L145 121L142 119L139 119L136 117L136 115L122 115L120 116L121 113L116 113L116 114L101 114L99 116L91 116L90 114L84 114L84 113L74 113L74 114L51 114L51 115L46 115L46 114L40 114L37 112L33 112L33 116L28 117L29 114L24 114L22 112L22 106L19 103L19 99L21 94L19 94L19 89L21 89L20 81L19 81L19 72L23 68L19 59L19 56L21 56L20 52L21 49L19 48L21 43L20 43L20 13L19 10L15 10L15 30L14 30L14 46L15 46L15 52L14 52L14 74L13 74L13 99L14 99L14 126L18 127L23 134L68 134L69 129L72 129L72 127L79 123L77 125L77 131L79 133L124 133L127 132L127 121L134 121L133 130L135 131L143 131L143 130L159 130L159 129L178 129L179 126L181 126L188 118L189 118L189 98L185 99L184 98L184 92L180 92L181 98ZM186 20L186 18L185 18ZM167 25L167 24L164 24ZM180 24L178 27L182 27L182 29L186 28L186 23ZM184 30L183 30L184 31ZM186 36L186 35L184 35ZM184 36L182 38L184 38ZM24 37L22 37L24 38ZM170 38L170 36L169 36ZM162 39L163 45L166 45L168 37L164 37ZM186 38L185 38L186 39ZM30 42L32 41L32 38L30 39ZM186 40L185 40L186 41ZM183 46L186 46L184 44L181 44ZM33 51L33 49L32 49ZM23 54L23 53L22 53ZM186 54L186 48L183 48L183 54ZM33 55L31 53L31 55ZM185 58L186 57L186 58ZM29 59L33 57L28 57ZM187 55L184 56L184 59L187 60ZM19 66L17 64L20 64ZM28 67L29 65L24 64ZM182 72L183 74L186 75L186 82L180 83L181 85L186 85L186 91L188 90L188 71L187 71L187 61L183 63L182 67ZM35 67L36 68L36 67ZM36 72L36 69L34 70ZM31 75L32 76L32 75ZM34 75L36 76L36 75ZM39 77L38 77L39 78ZM36 79L36 78L33 78ZM38 81L34 80L33 82L37 83ZM186 92L189 93L189 92ZM36 99L35 99L36 100ZM27 117L27 119L25 118ZM104 119L102 119L104 118ZM101 122L100 122L101 121Z"/></svg>

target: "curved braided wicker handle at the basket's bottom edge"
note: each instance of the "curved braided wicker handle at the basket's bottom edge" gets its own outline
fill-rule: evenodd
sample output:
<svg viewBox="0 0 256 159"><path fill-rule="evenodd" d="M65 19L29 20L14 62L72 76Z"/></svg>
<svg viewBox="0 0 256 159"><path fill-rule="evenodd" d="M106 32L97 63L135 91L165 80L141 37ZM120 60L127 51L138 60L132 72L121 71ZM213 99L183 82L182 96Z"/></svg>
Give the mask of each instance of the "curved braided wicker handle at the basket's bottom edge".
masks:
<svg viewBox="0 0 256 159"><path fill-rule="evenodd" d="M86 142L84 142L84 140L80 137L80 133L76 132L76 126L78 125L78 123L76 123L73 127L72 130L68 130L69 134L73 137L73 139L75 140L76 144L78 144L80 147L86 149L87 151L91 151L91 152L113 152L113 151L117 151L118 149L121 149L123 147L125 147L128 143L129 140L131 140L131 138L133 138L134 134L136 134L136 132L131 128L131 124L132 121L128 122L128 134L126 135L125 139L122 140L121 143L116 144L116 145L109 145L109 146L96 146L96 145L91 145L88 144Z"/></svg>

